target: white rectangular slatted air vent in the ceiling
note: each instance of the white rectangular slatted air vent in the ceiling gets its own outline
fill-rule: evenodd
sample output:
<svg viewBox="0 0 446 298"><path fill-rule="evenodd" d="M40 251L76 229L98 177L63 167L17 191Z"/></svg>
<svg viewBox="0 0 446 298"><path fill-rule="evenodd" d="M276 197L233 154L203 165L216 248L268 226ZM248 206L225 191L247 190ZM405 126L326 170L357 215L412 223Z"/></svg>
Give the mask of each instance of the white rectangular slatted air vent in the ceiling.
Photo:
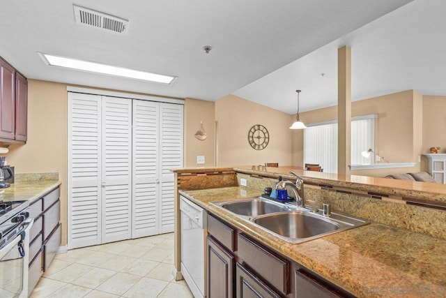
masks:
<svg viewBox="0 0 446 298"><path fill-rule="evenodd" d="M116 33L127 33L128 31L128 20L81 6L73 5L72 7L75 10L77 24L105 29Z"/></svg>

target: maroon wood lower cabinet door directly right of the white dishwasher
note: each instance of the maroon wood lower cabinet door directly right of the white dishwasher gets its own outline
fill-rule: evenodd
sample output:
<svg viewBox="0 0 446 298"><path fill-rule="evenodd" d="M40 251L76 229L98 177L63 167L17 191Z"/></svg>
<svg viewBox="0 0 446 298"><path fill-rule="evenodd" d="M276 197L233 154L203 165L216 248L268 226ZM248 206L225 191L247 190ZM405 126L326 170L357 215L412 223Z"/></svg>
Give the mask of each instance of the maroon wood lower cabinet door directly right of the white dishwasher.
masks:
<svg viewBox="0 0 446 298"><path fill-rule="evenodd" d="M212 238L207 238L208 298L233 297L234 257Z"/></svg>

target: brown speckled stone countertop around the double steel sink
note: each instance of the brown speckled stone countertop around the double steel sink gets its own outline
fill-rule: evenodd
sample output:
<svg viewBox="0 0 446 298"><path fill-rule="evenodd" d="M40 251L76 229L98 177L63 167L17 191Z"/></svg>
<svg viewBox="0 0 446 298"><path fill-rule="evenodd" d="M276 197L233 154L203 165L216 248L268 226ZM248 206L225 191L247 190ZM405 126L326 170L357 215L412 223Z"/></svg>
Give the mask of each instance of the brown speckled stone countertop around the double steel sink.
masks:
<svg viewBox="0 0 446 298"><path fill-rule="evenodd" d="M257 197L258 192L235 186L180 194L357 297L446 297L445 240L372 222L289 244L210 204Z"/></svg>

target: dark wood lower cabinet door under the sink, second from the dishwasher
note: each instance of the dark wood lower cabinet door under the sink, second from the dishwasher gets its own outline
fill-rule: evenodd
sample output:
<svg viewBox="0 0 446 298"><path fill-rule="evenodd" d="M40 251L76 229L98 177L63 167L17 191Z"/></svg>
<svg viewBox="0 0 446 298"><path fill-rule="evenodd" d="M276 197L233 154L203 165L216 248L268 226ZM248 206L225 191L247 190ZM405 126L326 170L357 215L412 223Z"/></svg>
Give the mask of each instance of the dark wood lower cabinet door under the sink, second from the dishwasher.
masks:
<svg viewBox="0 0 446 298"><path fill-rule="evenodd" d="M236 269L236 297L237 298L279 298L268 285L263 283L256 275L252 274L248 269L237 264Z"/></svg>

